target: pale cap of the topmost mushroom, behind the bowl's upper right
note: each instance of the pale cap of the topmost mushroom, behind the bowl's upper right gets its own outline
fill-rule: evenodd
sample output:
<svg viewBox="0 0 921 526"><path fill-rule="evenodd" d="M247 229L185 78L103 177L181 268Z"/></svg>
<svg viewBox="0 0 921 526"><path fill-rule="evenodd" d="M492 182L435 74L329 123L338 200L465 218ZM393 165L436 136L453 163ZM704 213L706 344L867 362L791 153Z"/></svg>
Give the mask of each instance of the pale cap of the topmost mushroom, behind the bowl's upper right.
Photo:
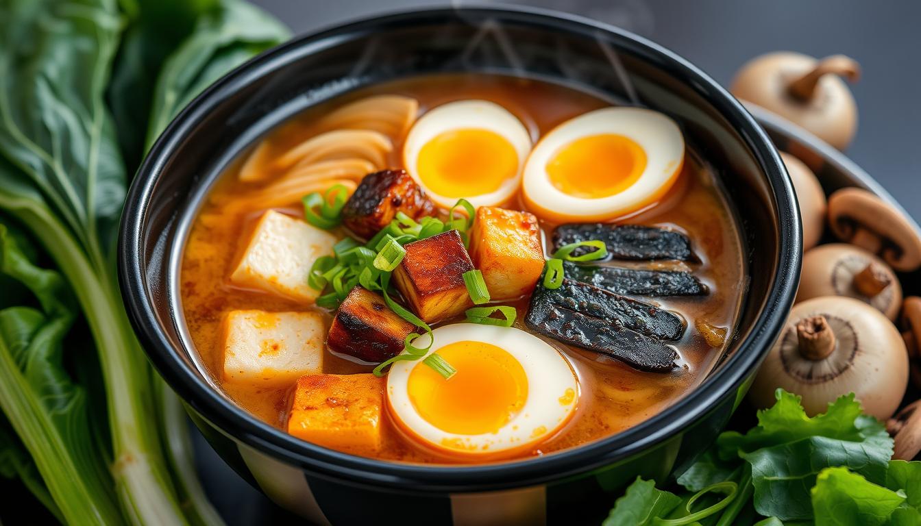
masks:
<svg viewBox="0 0 921 526"><path fill-rule="evenodd" d="M806 100L788 92L794 80L818 64L818 60L802 53L764 54L742 66L729 91L845 149L857 132L857 103L845 81L836 75L823 75L813 97Z"/></svg>

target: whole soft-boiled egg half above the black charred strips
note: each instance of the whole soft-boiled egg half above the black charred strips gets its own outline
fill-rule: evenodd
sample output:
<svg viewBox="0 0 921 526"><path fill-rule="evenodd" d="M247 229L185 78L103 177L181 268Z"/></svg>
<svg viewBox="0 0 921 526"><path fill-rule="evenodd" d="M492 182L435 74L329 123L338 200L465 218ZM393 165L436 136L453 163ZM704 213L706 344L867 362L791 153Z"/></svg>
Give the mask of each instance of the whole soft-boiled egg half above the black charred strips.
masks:
<svg viewBox="0 0 921 526"><path fill-rule="evenodd" d="M534 146L524 168L524 199L531 212L552 221L612 219L656 203L683 160L682 132L659 111L589 111Z"/></svg>

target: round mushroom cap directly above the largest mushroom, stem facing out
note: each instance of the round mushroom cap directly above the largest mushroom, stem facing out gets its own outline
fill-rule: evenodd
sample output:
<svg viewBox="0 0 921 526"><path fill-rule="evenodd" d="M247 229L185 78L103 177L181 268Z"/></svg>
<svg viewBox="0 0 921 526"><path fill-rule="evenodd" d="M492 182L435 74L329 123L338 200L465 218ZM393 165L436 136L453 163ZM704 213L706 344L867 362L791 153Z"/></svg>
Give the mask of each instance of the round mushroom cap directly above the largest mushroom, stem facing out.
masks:
<svg viewBox="0 0 921 526"><path fill-rule="evenodd" d="M854 276L872 264L889 278L876 296L866 296L854 285ZM803 254L797 303L821 296L846 296L869 303L894 321L902 309L902 285L892 268L875 254L846 243L819 245ZM921 329L921 326L919 326Z"/></svg>

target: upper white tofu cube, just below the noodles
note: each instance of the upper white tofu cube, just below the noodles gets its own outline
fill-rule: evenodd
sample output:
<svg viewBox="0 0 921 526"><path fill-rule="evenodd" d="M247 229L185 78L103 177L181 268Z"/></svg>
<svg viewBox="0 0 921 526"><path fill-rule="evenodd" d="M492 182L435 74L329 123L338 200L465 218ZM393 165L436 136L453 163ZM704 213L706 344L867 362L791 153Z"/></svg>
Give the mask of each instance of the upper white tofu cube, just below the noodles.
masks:
<svg viewBox="0 0 921 526"><path fill-rule="evenodd" d="M320 291L307 285L310 267L320 256L332 255L335 242L325 230L269 210L259 219L230 281L313 303Z"/></svg>

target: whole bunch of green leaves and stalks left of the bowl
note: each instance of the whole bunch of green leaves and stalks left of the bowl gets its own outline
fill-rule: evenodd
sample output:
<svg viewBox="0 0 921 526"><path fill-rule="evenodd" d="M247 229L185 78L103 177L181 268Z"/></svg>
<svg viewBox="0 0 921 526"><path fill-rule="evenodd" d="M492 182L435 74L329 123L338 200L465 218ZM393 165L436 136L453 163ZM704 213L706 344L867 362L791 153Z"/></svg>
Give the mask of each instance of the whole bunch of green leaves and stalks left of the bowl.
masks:
<svg viewBox="0 0 921 526"><path fill-rule="evenodd" d="M185 22L161 21L169 20L176 31L158 33L156 24L142 22L151 6L162 14L172 4L182 7L173 14ZM160 397L166 402L155 403L152 391L164 386L151 383L115 279L114 230L126 180L120 146L130 153L132 143L117 141L105 97L122 116L118 135L146 131L134 142L139 158L137 145L152 140L197 90L283 40L286 31L230 0L126 0L122 7L129 35L136 36L122 43L120 65L132 57L153 60L120 68L122 82L110 86L124 21L115 0L0 2L0 214L29 230L63 279L23 255L28 249L20 245L28 247L28 241L10 241L3 254L28 262L32 274L50 273L57 282L69 282L76 297L72 303L85 315L99 354L110 435L90 439L86 395L61 365L62 334L77 312L65 303L67 287L52 290L29 276L11 275L29 288L38 307L2 311L10 314L0 319L0 406L41 481L12 437L0 442L0 470L15 471L66 522L207 523L217 519L213 509L202 505L193 473L178 468L187 462L187 443L173 434L175 429L166 434L157 429L158 422L179 429L185 422L174 399L170 405L168 389ZM246 18L254 13L262 18ZM151 35L159 35L153 44ZM149 51L146 46L154 44L156 50ZM132 91L150 78L157 78L153 99L143 90ZM151 109L150 123L148 114L119 112L133 105ZM8 327L2 321L7 319ZM169 442L169 462L163 440Z"/></svg>

